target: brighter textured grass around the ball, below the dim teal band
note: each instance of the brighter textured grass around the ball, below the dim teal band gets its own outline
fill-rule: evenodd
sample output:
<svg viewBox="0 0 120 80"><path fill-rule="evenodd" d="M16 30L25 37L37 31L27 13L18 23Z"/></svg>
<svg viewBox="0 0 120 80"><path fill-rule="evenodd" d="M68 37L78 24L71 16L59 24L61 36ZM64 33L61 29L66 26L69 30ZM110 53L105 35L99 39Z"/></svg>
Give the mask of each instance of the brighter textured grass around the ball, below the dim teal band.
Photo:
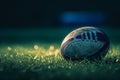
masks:
<svg viewBox="0 0 120 80"><path fill-rule="evenodd" d="M117 38L112 40L109 52L100 61L66 61L60 54L60 44L59 41L1 43L0 80L119 80L120 43Z"/></svg>

